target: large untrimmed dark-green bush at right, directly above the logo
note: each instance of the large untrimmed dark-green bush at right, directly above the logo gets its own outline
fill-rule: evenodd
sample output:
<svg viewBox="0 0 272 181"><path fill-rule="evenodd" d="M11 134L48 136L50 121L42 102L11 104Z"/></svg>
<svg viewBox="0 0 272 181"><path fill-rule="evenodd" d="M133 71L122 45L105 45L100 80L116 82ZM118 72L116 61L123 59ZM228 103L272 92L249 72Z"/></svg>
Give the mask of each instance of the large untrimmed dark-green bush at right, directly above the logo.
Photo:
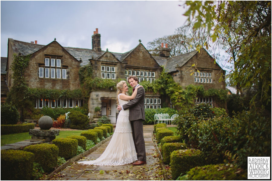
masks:
<svg viewBox="0 0 272 181"><path fill-rule="evenodd" d="M189 141L197 140L195 145L209 157L209 164L231 161L246 169L248 156L271 154L271 117L264 113L243 111L232 118L215 117L193 125L190 130ZM236 154L236 158L228 158L227 151Z"/></svg>

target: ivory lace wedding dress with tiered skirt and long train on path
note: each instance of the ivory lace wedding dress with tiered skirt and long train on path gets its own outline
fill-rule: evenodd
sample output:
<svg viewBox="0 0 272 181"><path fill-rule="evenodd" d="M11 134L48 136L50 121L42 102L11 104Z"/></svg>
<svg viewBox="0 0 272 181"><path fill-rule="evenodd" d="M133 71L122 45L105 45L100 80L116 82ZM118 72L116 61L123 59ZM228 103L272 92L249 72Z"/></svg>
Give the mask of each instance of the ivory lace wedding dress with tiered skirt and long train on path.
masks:
<svg viewBox="0 0 272 181"><path fill-rule="evenodd" d="M121 100L118 95L119 105L124 105L128 101ZM137 161L136 150L132 138L131 124L128 120L129 109L119 112L115 131L112 139L102 155L96 160L78 162L89 165L126 165Z"/></svg>

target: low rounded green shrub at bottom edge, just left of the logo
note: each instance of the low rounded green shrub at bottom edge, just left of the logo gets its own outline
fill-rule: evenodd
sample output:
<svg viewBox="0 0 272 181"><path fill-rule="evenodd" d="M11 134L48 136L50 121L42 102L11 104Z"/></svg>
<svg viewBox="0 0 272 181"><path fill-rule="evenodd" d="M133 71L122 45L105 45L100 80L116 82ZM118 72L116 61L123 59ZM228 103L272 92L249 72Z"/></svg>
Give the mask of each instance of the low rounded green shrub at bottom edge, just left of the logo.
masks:
<svg viewBox="0 0 272 181"><path fill-rule="evenodd" d="M247 172L231 164L194 167L178 180L247 180Z"/></svg>

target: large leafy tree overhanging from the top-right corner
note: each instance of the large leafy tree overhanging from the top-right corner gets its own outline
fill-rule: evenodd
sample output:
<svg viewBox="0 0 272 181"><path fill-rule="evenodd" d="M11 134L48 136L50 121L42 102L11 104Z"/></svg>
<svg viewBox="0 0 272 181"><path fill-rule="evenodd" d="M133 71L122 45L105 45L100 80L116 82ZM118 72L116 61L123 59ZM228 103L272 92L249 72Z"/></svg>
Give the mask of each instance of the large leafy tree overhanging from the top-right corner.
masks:
<svg viewBox="0 0 272 181"><path fill-rule="evenodd" d="M251 105L271 107L271 2L186 1L184 14L193 27L211 32L209 39L229 43L228 61L234 61L230 80L254 88ZM227 43L226 42L226 43Z"/></svg>

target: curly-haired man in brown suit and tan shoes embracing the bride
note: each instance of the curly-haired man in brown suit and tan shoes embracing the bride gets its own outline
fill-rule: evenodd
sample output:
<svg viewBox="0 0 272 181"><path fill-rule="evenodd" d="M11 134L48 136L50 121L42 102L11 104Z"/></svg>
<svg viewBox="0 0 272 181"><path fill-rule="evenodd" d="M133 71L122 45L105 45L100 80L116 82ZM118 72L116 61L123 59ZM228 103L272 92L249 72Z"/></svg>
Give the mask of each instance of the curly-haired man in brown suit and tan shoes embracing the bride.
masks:
<svg viewBox="0 0 272 181"><path fill-rule="evenodd" d="M134 88L139 86L139 80L136 76L129 76L128 83ZM132 137L137 153L138 161L132 163L133 165L143 165L146 164L146 153L144 144L144 130L143 121L145 120L144 113L144 88L140 87L137 91L137 95L134 99L129 101L125 105L118 105L118 110L126 110L129 108L129 117L132 128Z"/></svg>

